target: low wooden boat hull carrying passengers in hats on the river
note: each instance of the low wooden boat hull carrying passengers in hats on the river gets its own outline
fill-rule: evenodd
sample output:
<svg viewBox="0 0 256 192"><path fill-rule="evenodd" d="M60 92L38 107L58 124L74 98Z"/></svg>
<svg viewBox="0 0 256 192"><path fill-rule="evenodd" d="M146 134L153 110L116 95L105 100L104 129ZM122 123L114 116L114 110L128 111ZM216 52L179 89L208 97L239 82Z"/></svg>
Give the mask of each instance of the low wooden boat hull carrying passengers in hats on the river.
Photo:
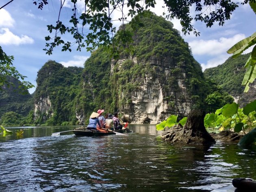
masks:
<svg viewBox="0 0 256 192"><path fill-rule="evenodd" d="M73 133L76 136L107 136L107 135L114 135L118 133L124 133L126 131L126 128L112 131L111 129L97 129L97 130L88 130L86 128L80 128L80 129L73 129Z"/></svg>

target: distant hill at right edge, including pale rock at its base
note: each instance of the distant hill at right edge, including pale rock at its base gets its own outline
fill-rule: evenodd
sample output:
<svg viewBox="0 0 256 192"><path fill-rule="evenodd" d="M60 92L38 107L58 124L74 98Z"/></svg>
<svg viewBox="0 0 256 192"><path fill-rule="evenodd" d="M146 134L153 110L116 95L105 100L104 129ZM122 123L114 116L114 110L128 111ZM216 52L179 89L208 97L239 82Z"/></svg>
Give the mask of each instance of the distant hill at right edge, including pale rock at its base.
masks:
<svg viewBox="0 0 256 192"><path fill-rule="evenodd" d="M250 54L242 54L237 58L228 58L223 64L217 67L208 68L204 76L214 80L223 90L232 95L241 106L256 99L256 84L250 84L249 91L244 93L245 86L241 85L245 75L245 63Z"/></svg>

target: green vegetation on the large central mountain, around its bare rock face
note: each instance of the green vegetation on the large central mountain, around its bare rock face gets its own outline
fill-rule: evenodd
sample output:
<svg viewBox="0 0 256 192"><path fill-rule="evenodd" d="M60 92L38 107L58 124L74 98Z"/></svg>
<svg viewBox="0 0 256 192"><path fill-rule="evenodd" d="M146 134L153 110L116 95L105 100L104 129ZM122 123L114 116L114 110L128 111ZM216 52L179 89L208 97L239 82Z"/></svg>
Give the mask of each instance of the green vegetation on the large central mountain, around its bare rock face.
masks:
<svg viewBox="0 0 256 192"><path fill-rule="evenodd" d="M188 44L184 42L178 30L173 28L171 22L151 12L148 17L141 17L140 21L142 23L138 24L137 30L133 30L132 24L125 26L127 35L132 35L134 41L129 47L131 52L126 52L126 41L119 42L119 60L124 59L121 65L119 60L111 61L110 50L106 47L96 50L87 59L82 75L85 84L77 98L79 110L84 111L86 117L99 108L106 108L109 112L124 108L131 104L132 92L139 91L145 78L155 80L165 76L157 65L152 65L154 59L171 60L167 66L171 75L167 78L166 92L178 91L177 79L181 73L186 73L185 84L191 95L193 108L216 110L233 101L216 83L204 78L200 64L193 58ZM139 27L141 25L143 27ZM137 62L133 58L136 58ZM170 105L175 99L171 95L165 98ZM217 100L220 98L221 102L218 104Z"/></svg>

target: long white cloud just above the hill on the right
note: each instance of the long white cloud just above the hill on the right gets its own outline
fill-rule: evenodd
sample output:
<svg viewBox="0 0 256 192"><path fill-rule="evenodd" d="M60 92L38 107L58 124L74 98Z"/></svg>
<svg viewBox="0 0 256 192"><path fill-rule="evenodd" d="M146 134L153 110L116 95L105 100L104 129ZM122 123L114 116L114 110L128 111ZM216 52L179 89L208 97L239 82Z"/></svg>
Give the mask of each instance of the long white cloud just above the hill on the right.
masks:
<svg viewBox="0 0 256 192"><path fill-rule="evenodd" d="M189 42L194 55L219 55L230 49L235 43L245 39L244 34L237 34L230 38L221 37L210 40L194 40Z"/></svg>

